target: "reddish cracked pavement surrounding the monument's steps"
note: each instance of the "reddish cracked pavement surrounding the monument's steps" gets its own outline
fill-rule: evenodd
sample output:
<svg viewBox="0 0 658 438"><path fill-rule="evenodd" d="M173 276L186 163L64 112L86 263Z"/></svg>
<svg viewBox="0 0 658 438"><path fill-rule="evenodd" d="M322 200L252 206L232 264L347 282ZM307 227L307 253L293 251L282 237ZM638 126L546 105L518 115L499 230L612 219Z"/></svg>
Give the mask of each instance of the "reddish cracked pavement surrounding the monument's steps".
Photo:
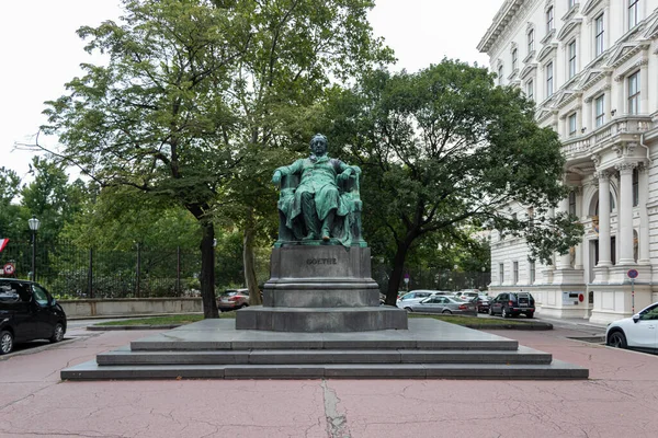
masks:
<svg viewBox="0 0 658 438"><path fill-rule="evenodd" d="M583 327L583 333L600 327ZM490 331L590 369L587 381L61 382L59 370L154 331L87 332L0 359L0 437L655 437L658 356Z"/></svg>

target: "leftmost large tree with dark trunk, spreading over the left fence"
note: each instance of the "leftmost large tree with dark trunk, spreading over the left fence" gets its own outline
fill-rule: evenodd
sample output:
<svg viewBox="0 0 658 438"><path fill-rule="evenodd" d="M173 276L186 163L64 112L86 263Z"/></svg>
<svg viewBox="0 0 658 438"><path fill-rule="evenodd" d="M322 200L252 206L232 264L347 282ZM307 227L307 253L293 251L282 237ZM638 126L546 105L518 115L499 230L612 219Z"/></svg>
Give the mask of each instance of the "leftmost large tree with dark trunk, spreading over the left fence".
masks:
<svg viewBox="0 0 658 438"><path fill-rule="evenodd" d="M69 93L48 102L46 134L60 157L101 187L131 186L190 211L201 228L201 287L206 318L214 292L213 205L240 161L226 94L236 59L252 41L231 3L124 0L121 23L78 31L104 66L83 65Z"/></svg>

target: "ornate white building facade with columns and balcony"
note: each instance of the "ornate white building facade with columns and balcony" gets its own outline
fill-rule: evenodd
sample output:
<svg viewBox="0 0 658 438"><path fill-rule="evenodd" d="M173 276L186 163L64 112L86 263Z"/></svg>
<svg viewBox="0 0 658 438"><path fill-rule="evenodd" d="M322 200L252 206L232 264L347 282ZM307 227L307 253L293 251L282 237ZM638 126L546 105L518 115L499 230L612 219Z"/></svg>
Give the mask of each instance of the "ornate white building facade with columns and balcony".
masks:
<svg viewBox="0 0 658 438"><path fill-rule="evenodd" d="M507 0L478 49L558 132L571 188L558 209L586 228L552 265L494 232L491 291L529 290L543 315L598 323L658 301L658 0Z"/></svg>

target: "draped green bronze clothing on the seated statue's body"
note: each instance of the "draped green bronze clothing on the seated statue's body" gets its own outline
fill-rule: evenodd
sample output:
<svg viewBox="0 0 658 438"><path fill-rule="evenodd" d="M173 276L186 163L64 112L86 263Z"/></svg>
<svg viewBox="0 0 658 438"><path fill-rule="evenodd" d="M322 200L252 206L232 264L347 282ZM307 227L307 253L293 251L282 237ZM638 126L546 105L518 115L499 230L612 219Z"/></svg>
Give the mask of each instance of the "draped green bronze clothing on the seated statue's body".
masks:
<svg viewBox="0 0 658 438"><path fill-rule="evenodd" d="M285 226L293 230L297 239L302 238L299 221L302 216L302 194L311 193L315 198L315 208L320 223L327 218L331 209L336 209L336 218L331 237L338 239L341 244L349 246L351 243L349 214L350 205L347 196L340 194L337 185L337 175L351 169L348 164L327 155L295 161L291 165L276 169L282 175L298 174L300 183L294 191L282 191L279 199L279 209L285 216ZM319 228L319 227L318 227Z"/></svg>

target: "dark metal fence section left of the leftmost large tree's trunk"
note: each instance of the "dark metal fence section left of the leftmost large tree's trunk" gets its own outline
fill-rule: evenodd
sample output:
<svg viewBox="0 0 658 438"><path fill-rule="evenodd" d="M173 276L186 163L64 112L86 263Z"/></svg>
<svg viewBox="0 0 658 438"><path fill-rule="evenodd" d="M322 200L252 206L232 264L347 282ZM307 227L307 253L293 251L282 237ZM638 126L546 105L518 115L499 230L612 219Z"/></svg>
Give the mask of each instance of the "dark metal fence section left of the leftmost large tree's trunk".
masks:
<svg viewBox="0 0 658 438"><path fill-rule="evenodd" d="M34 250L35 279L59 298L181 297L198 290L198 251L140 245L103 251L63 241L37 241ZM11 264L12 277L32 278L32 242L10 241L0 267Z"/></svg>

